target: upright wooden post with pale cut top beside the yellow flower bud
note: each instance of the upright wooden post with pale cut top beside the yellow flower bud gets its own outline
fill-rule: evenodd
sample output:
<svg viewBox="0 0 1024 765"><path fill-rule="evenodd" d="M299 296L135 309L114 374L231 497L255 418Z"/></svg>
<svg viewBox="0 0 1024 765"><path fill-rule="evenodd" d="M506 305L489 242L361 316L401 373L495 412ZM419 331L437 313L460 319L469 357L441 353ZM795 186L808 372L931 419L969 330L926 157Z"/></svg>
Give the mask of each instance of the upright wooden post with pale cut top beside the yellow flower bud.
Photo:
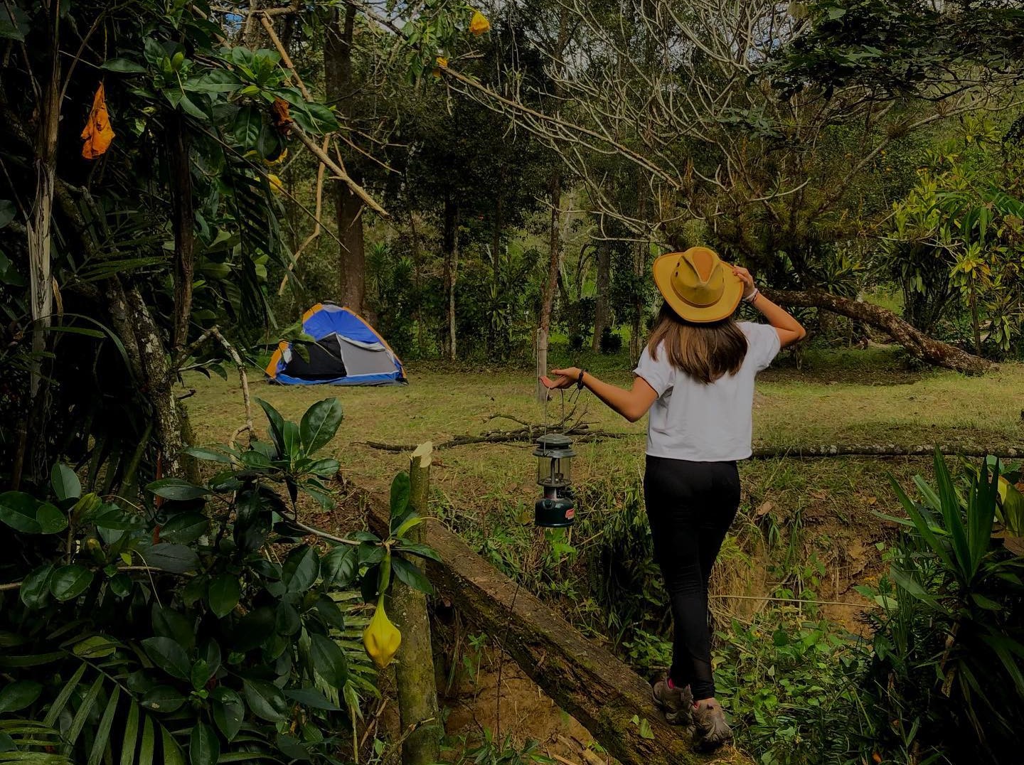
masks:
<svg viewBox="0 0 1024 765"><path fill-rule="evenodd" d="M430 495L430 461L433 444L421 443L410 461L412 484L410 505L421 516L427 514ZM423 526L409 533L415 542L423 542ZM394 624L401 632L401 646L395 665L398 711L402 733L412 732L401 747L404 765L433 765L440 762L440 718L437 714L437 685L434 656L430 645L430 619L427 598L417 590L395 582L391 590Z"/></svg>

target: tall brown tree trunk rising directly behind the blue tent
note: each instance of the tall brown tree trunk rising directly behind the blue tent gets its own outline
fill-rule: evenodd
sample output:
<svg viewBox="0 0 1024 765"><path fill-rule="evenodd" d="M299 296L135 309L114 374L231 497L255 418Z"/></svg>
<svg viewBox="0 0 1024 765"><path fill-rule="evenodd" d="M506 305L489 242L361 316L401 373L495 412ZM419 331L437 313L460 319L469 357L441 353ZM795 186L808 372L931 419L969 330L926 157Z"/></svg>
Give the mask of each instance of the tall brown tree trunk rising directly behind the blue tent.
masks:
<svg viewBox="0 0 1024 765"><path fill-rule="evenodd" d="M345 8L344 26L338 8L333 8L324 30L324 85L327 100L338 105L345 118L351 118L353 103L352 35L356 6ZM358 180L356 174L352 178ZM335 181L335 219L338 223L338 300L342 305L366 311L367 256L362 232L362 201L352 194L348 183Z"/></svg>

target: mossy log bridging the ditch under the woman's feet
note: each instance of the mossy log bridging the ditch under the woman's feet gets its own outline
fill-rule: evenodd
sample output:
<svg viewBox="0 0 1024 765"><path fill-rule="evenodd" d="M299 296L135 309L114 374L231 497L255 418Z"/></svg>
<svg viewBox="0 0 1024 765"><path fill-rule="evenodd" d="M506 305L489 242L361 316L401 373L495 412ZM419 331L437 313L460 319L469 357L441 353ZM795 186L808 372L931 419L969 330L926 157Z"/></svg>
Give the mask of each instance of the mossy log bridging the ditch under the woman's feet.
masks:
<svg viewBox="0 0 1024 765"><path fill-rule="evenodd" d="M362 495L371 528L384 533L388 509ZM427 561L434 587L502 647L561 709L572 715L623 765L753 765L729 748L711 758L690 751L689 734L665 722L650 684L591 642L558 613L502 575L435 520L423 541L440 555Z"/></svg>

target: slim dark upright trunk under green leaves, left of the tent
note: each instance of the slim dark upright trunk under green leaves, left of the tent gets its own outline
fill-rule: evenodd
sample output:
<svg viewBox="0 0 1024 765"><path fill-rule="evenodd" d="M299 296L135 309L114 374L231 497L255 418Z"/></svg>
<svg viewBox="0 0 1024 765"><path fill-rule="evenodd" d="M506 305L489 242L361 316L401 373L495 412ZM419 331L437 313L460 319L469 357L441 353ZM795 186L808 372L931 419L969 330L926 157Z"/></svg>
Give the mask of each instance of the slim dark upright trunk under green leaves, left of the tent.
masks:
<svg viewBox="0 0 1024 765"><path fill-rule="evenodd" d="M171 118L167 141L167 167L171 187L171 220L174 228L174 318L171 348L177 352L188 342L188 318L195 274L196 235L193 212L191 167L184 118Z"/></svg>

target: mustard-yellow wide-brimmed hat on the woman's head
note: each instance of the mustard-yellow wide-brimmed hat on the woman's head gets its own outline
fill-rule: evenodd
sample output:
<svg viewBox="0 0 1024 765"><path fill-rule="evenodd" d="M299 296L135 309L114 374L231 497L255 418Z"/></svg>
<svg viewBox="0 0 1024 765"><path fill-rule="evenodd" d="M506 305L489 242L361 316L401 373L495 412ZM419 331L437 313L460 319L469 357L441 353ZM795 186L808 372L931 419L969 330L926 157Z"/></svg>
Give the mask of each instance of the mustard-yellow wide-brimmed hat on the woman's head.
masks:
<svg viewBox="0 0 1024 765"><path fill-rule="evenodd" d="M655 260L653 267L662 297L687 322L728 318L743 296L743 283L707 247L670 252Z"/></svg>

